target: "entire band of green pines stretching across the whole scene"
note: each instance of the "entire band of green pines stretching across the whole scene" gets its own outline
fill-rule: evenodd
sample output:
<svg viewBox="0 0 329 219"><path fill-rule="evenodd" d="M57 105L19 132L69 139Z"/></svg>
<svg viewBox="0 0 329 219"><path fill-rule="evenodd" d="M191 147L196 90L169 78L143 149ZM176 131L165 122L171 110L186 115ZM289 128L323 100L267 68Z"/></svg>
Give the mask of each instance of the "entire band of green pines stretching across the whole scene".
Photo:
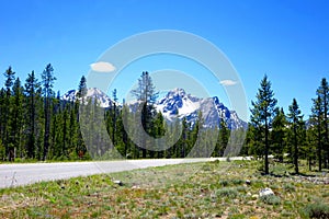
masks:
<svg viewBox="0 0 329 219"><path fill-rule="evenodd" d="M230 130L225 119L219 120L218 127L203 128L201 112L195 123L178 116L168 123L155 107L158 93L147 71L141 73L138 87L132 91L137 100L135 105L118 104L114 89L109 108L86 97L88 88L83 76L77 99L61 100L60 93L54 91L56 77L50 64L41 79L32 71L24 84L11 67L3 74L1 161L230 157L239 153L263 158L266 174L270 173L270 154L280 162L293 163L296 173L300 159L307 160L309 169L317 165L321 171L329 166L326 78L315 93L311 115L304 118L295 99L287 113L277 106L271 81L265 76L251 103L245 139L245 130ZM172 147L166 147L166 142Z"/></svg>

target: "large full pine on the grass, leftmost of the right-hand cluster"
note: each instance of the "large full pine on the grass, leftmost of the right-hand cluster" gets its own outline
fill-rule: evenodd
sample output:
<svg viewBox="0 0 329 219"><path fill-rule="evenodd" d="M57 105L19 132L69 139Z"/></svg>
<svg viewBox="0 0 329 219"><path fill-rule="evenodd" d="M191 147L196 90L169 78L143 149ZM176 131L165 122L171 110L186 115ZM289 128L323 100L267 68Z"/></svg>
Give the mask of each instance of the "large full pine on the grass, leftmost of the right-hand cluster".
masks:
<svg viewBox="0 0 329 219"><path fill-rule="evenodd" d="M257 101L251 102L251 123L256 128L264 130L264 171L265 174L269 174L269 130L272 126L277 101L274 99L274 92L271 90L271 82L266 76L264 76L260 85L261 88L258 90L256 96Z"/></svg>

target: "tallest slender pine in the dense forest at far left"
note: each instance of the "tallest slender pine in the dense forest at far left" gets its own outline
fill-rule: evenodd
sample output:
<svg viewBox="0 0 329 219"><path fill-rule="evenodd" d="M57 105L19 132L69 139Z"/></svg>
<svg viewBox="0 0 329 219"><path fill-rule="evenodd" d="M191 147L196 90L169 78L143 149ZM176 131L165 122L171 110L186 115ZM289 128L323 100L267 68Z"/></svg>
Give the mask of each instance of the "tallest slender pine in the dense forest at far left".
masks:
<svg viewBox="0 0 329 219"><path fill-rule="evenodd" d="M44 112L45 112L45 135L44 135L44 153L43 160L47 159L49 149L49 135L50 135L50 103L54 94L54 68L48 64L42 73L43 94L44 94Z"/></svg>

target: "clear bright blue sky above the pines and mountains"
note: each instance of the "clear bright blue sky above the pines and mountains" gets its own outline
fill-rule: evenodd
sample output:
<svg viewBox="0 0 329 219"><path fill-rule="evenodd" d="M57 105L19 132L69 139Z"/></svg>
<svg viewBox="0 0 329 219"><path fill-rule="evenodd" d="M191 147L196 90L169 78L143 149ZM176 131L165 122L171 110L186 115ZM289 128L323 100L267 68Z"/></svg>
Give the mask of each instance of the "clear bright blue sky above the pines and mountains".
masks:
<svg viewBox="0 0 329 219"><path fill-rule="evenodd" d="M308 115L311 97L329 76L328 1L160 1L160 0L1 0L0 70L12 66L25 81L50 62L61 93L76 89L90 65L117 42L156 30L198 35L228 57L254 100L266 73L279 105L287 111L293 97ZM133 48L132 48L133 49ZM173 56L146 57L126 68L115 83L125 96L143 70L179 69L202 81L209 95L229 105L223 87L200 65ZM3 76L1 74L3 83ZM219 85L218 85L219 84Z"/></svg>

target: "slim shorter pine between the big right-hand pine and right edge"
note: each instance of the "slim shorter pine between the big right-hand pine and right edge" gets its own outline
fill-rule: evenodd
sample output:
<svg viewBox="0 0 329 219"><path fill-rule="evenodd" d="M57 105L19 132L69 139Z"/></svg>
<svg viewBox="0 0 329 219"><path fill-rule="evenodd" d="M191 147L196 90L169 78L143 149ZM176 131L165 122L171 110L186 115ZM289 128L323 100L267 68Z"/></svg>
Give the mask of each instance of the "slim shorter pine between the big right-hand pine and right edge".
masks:
<svg viewBox="0 0 329 219"><path fill-rule="evenodd" d="M291 124L291 128L293 130L293 143L294 143L294 165L295 165L295 173L298 174L298 128L300 127L302 123L300 119L303 119L302 112L299 110L299 106L297 104L296 99L293 100L292 105L288 107L288 119Z"/></svg>

